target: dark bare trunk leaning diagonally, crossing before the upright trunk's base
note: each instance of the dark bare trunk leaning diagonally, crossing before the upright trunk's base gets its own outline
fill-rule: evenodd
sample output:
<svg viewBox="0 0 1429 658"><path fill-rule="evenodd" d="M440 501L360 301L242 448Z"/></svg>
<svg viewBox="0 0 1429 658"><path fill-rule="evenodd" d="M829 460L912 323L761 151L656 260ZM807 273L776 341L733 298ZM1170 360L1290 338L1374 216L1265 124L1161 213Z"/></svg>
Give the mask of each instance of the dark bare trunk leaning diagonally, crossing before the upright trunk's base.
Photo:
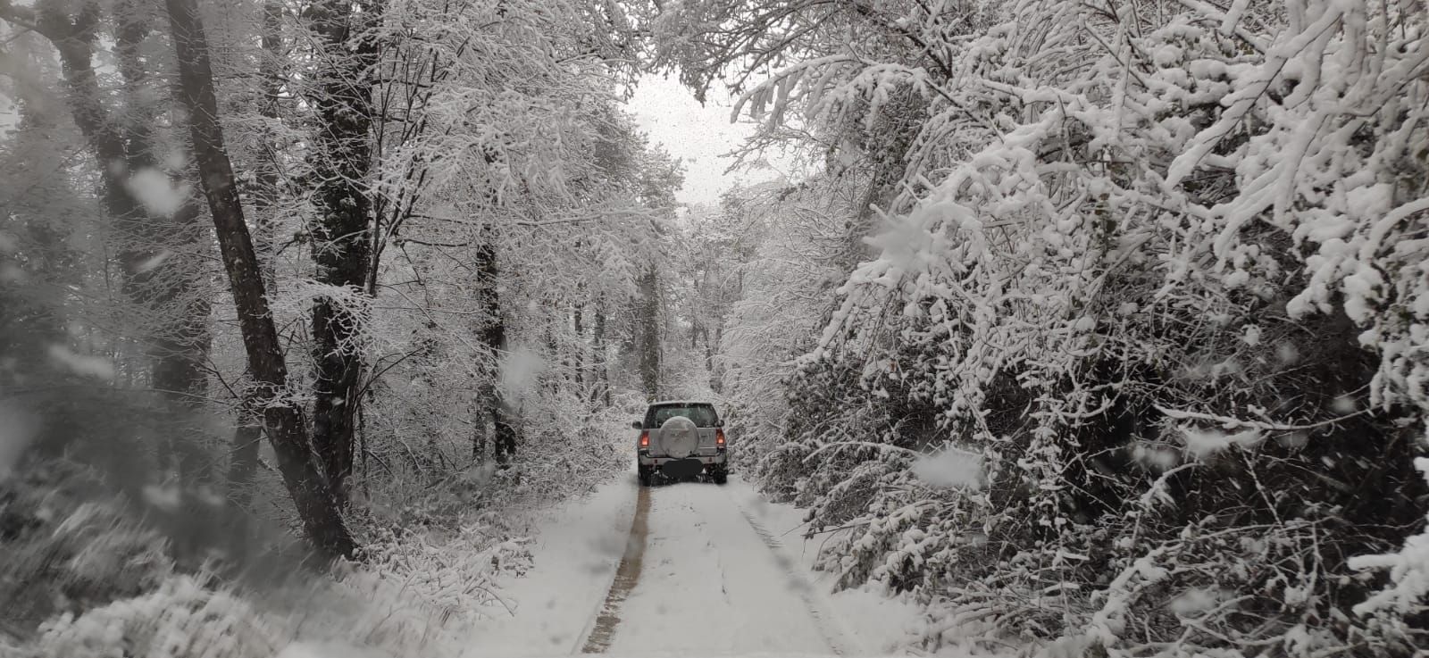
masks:
<svg viewBox="0 0 1429 658"><path fill-rule="evenodd" d="M249 370L257 383L254 400L264 410L264 428L277 452L279 471L309 538L326 557L352 557L357 547L309 450L303 411L290 397L280 395L287 385L287 364L283 361L277 328L263 290L263 270L243 221L233 166L217 120L203 21L194 0L166 0L164 6L179 56L179 100L189 113L199 180L213 213L219 248L239 311Z"/></svg>

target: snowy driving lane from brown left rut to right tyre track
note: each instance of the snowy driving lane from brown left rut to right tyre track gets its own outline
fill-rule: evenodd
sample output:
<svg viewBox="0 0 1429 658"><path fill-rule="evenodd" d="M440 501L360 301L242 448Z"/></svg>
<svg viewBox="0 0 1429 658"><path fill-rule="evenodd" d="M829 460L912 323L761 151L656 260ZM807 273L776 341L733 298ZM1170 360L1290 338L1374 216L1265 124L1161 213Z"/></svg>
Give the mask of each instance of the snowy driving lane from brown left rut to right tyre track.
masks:
<svg viewBox="0 0 1429 658"><path fill-rule="evenodd" d="M597 624L583 651L849 652L836 625L823 622L820 597L740 507L737 492L743 492L737 484L703 482L639 490L632 537L639 541L643 534L644 545L626 555L627 564L639 562L639 575L617 575L610 597L617 609L603 615L609 625Z"/></svg>

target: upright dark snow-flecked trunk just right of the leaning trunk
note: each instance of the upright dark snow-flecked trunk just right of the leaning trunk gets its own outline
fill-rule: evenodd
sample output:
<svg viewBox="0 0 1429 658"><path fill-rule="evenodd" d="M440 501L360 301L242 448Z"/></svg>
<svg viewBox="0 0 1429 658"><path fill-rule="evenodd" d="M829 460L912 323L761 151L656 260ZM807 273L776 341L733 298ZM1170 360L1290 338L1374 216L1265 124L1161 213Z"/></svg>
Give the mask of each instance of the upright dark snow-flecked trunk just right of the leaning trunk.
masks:
<svg viewBox="0 0 1429 658"><path fill-rule="evenodd" d="M364 295L372 248L372 83L379 43L372 29L380 6L324 0L310 7L323 44L314 110L313 173L317 224L313 227L316 278ZM359 340L364 313L350 301L319 297L313 304L313 447L339 501L347 504L353 470L357 395L363 374Z"/></svg>

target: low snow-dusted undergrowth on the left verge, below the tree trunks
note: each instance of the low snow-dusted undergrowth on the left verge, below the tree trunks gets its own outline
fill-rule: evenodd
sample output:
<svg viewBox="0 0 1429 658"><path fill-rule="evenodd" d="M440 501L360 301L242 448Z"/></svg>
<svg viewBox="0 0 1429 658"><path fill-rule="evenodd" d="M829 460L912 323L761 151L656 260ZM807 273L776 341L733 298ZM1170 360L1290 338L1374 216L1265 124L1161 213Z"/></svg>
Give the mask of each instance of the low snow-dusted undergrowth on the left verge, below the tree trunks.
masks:
<svg viewBox="0 0 1429 658"><path fill-rule="evenodd" d="M533 514L623 472L612 437L626 415L532 424L559 448L384 491L390 505L350 517L362 554L333 568L270 521L236 537L240 512L211 492L126 498L76 461L26 462L0 488L0 655L257 658L294 642L457 655L473 624L512 614L499 582L533 567Z"/></svg>

